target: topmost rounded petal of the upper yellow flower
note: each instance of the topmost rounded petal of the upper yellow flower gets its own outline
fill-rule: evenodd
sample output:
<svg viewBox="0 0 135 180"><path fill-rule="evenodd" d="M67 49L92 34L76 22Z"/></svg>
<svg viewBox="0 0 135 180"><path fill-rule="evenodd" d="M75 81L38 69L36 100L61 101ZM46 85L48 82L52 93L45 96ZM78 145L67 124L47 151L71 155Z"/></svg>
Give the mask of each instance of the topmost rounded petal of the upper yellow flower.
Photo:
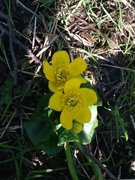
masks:
<svg viewBox="0 0 135 180"><path fill-rule="evenodd" d="M66 51L57 51L52 56L52 65L57 66L59 64L69 64L70 58Z"/></svg>

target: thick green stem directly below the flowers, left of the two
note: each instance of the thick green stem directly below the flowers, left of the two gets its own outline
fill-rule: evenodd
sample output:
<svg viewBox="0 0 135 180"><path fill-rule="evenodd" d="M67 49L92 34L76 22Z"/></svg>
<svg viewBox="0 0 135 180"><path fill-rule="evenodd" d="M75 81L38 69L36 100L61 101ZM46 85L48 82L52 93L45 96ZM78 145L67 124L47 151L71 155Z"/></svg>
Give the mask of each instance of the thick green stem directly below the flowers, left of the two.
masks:
<svg viewBox="0 0 135 180"><path fill-rule="evenodd" d="M78 176L76 174L74 164L73 164L70 144L68 142L66 142L64 145L64 148L65 148L65 154L66 154L66 158L67 158L68 170L70 172L72 180L79 180Z"/></svg>

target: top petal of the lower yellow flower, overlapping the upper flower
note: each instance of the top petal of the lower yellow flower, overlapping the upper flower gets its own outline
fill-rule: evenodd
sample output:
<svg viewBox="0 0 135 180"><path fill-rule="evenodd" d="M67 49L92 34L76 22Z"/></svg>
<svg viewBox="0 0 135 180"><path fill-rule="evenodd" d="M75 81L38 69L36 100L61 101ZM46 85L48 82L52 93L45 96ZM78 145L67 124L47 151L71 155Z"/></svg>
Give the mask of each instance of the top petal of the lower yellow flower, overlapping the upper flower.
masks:
<svg viewBox="0 0 135 180"><path fill-rule="evenodd" d="M64 92L66 93L68 91L79 90L81 83L82 83L82 79L80 77L70 79L65 84Z"/></svg>

